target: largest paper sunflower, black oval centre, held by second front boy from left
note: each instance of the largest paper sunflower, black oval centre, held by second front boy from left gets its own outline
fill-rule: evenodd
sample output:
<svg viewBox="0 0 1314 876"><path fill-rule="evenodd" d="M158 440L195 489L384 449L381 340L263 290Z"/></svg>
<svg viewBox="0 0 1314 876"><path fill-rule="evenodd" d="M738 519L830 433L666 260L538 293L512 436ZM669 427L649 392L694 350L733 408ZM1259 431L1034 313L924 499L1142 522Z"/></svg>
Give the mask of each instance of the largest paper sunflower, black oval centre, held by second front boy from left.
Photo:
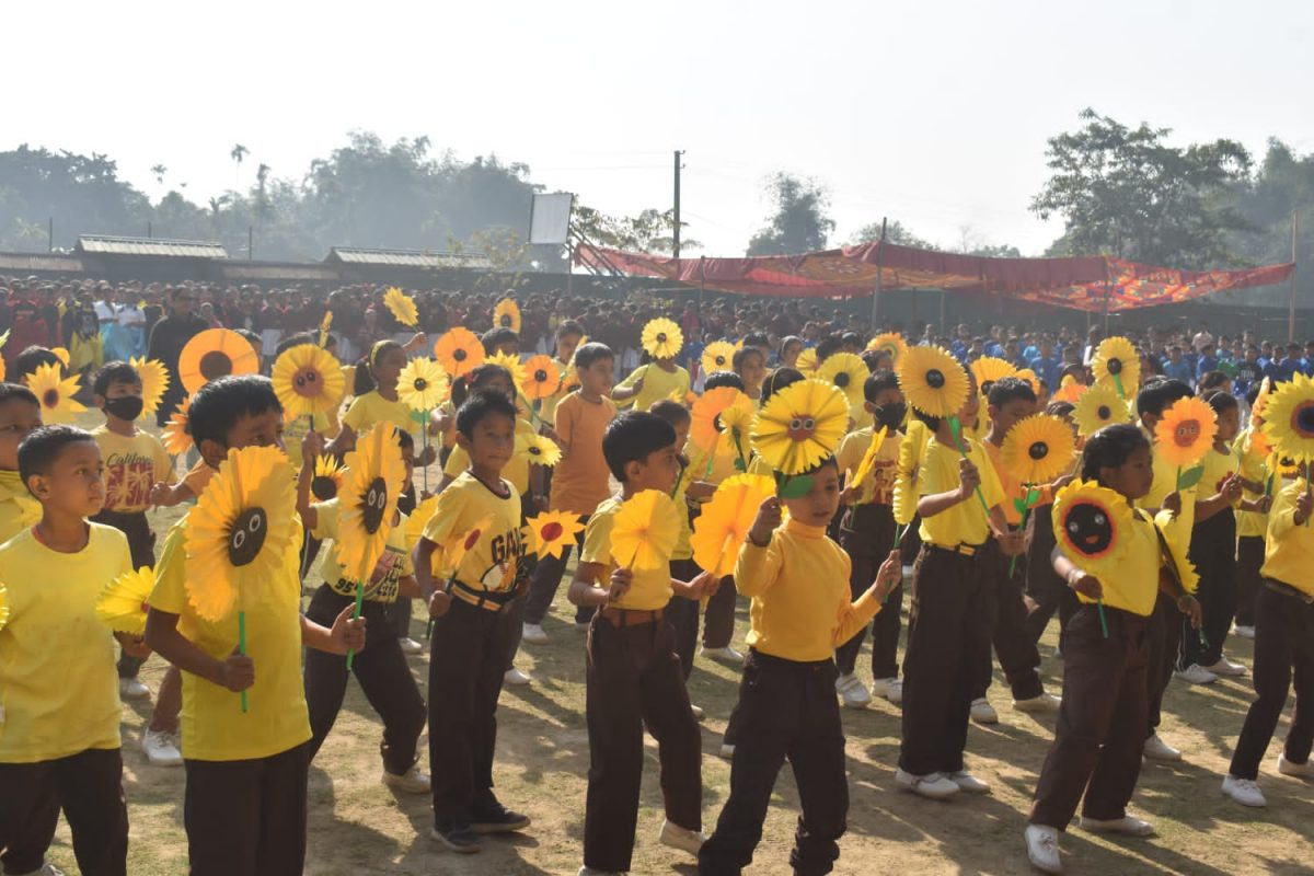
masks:
<svg viewBox="0 0 1314 876"><path fill-rule="evenodd" d="M296 519L297 491L283 450L229 450L187 517L187 596L197 616L221 621L279 580L301 532Z"/></svg>

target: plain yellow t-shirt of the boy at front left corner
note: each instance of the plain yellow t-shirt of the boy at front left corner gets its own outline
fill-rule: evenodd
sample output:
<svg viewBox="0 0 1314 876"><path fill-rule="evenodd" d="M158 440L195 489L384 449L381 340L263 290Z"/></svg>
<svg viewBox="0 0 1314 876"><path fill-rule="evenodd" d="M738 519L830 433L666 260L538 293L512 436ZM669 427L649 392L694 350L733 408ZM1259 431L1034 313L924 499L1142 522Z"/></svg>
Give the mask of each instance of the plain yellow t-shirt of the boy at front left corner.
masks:
<svg viewBox="0 0 1314 876"><path fill-rule="evenodd" d="M114 637L96 619L96 596L131 571L127 538L88 524L87 546L60 553L24 529L0 548L9 623L0 629L0 763L117 749Z"/></svg>

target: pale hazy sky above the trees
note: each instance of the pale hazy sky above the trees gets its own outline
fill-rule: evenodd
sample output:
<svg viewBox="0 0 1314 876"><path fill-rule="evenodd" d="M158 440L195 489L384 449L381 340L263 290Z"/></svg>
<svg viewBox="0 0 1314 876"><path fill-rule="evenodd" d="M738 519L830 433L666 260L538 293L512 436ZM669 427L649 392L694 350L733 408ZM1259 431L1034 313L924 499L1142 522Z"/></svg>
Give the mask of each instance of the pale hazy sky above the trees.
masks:
<svg viewBox="0 0 1314 876"><path fill-rule="evenodd" d="M741 255L763 177L830 192L834 243L882 215L924 238L1038 253L1045 141L1093 106L1175 142L1314 151L1314 4L7 3L0 148L150 167L204 201L234 143L300 177L347 131L428 135L530 164L608 213L665 209L686 150L686 232ZM351 243L351 242L342 242ZM442 246L442 242L436 242Z"/></svg>

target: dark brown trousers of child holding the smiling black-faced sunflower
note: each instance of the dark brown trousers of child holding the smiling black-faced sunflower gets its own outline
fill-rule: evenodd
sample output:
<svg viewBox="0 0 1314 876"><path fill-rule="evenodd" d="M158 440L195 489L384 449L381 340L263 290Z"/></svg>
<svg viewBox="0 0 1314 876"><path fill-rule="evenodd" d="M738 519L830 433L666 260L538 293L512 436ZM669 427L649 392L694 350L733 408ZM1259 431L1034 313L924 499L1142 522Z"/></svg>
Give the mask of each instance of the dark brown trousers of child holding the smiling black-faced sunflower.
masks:
<svg viewBox="0 0 1314 876"><path fill-rule="evenodd" d="M1126 814L1141 775L1144 745L1148 617L1081 607L1068 624L1063 650L1063 705L1041 779L1031 823L1064 830L1085 793L1081 814L1114 820Z"/></svg>

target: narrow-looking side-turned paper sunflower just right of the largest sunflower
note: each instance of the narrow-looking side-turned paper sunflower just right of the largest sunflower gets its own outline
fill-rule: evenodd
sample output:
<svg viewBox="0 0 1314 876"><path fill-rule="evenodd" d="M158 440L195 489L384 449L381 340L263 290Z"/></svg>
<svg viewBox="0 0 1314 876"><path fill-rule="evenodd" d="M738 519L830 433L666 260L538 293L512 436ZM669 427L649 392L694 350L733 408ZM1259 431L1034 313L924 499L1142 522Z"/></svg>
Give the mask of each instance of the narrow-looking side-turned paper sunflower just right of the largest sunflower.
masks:
<svg viewBox="0 0 1314 876"><path fill-rule="evenodd" d="M347 454L347 481L338 494L338 562L348 580L368 582L384 553L406 486L397 427L380 423Z"/></svg>

